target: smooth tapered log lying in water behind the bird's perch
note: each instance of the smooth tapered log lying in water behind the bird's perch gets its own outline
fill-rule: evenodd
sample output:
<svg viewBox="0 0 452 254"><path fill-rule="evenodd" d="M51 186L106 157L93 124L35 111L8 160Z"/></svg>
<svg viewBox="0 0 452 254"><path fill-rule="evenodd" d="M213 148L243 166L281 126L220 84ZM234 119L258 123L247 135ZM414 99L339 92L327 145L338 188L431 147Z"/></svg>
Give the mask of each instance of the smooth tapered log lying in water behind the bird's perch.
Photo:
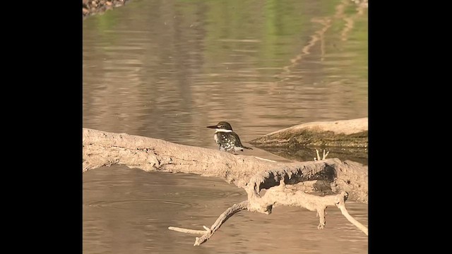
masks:
<svg viewBox="0 0 452 254"><path fill-rule="evenodd" d="M251 145L292 160L311 160L328 147L329 157L367 164L368 118L316 121L274 131L249 141Z"/></svg>

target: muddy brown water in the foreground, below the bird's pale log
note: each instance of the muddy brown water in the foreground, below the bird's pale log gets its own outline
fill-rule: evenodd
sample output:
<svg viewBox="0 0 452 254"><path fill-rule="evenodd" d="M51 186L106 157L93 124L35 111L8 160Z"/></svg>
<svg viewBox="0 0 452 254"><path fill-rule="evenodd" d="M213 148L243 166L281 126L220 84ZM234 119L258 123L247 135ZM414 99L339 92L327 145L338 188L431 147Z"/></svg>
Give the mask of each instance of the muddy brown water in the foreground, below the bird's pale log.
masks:
<svg viewBox="0 0 452 254"><path fill-rule="evenodd" d="M121 166L83 175L83 253L367 253L367 236L328 207L326 228L315 212L275 207L270 215L239 212L209 241L168 226L202 230L246 193L220 179L146 173ZM347 204L367 225L367 206Z"/></svg>

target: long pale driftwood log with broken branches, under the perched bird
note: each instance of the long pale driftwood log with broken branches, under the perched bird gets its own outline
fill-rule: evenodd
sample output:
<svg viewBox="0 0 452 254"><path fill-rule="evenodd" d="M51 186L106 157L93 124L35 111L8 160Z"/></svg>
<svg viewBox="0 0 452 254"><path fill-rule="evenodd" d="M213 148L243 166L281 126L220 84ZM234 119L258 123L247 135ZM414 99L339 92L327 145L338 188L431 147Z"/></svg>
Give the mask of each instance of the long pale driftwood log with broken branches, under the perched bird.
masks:
<svg viewBox="0 0 452 254"><path fill-rule="evenodd" d="M210 238L234 213L249 210L270 214L275 205L307 208L319 214L319 229L326 224L325 209L336 205L344 216L367 234L367 228L345 209L345 200L367 203L367 167L339 159L282 163L258 157L179 145L126 133L83 128L83 171L112 164L145 171L184 172L215 176L244 188L248 200L232 205L203 231L169 229L198 234L195 245ZM263 193L263 190L266 190Z"/></svg>

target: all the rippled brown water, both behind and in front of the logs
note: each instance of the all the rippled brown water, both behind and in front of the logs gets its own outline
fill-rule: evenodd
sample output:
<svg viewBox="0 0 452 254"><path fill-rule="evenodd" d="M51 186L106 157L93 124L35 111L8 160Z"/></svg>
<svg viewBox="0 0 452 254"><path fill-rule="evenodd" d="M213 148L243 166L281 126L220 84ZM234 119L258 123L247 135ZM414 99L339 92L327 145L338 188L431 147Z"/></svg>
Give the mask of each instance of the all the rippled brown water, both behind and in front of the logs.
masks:
<svg viewBox="0 0 452 254"><path fill-rule="evenodd" d="M83 127L216 148L205 126L218 121L246 144L299 123L367 116L367 31L367 8L345 0L130 1L83 20ZM245 199L220 179L88 171L83 251L367 253L367 236L335 207L323 230L301 208L240 212L198 247L167 229L210 226ZM347 207L367 224L367 205Z"/></svg>

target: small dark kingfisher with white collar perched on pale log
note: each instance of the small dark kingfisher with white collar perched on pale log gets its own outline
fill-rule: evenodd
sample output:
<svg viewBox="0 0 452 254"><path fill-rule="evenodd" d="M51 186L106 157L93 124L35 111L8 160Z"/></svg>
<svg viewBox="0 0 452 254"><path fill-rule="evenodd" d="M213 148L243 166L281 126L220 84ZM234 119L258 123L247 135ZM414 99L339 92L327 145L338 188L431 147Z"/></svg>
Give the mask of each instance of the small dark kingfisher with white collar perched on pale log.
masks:
<svg viewBox="0 0 452 254"><path fill-rule="evenodd" d="M213 139L218 144L220 151L237 152L243 151L243 149L253 149L242 145L239 135L232 131L232 126L228 122L220 121L217 125L207 126L207 128L216 129L215 134L213 134Z"/></svg>

